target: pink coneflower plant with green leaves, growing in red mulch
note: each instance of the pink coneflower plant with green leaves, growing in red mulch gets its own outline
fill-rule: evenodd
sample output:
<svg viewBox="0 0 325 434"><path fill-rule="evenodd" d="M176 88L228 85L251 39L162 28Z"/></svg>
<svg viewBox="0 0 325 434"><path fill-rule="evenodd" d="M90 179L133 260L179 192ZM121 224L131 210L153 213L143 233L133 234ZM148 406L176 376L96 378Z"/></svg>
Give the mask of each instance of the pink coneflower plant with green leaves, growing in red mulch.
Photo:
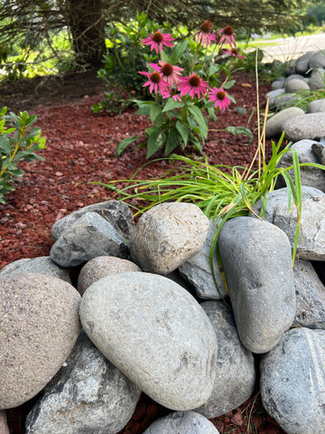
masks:
<svg viewBox="0 0 325 434"><path fill-rule="evenodd" d="M147 146L146 158L161 148L164 148L164 155L169 156L178 146L183 151L188 144L202 153L209 131L204 113L215 121L216 110L227 110L231 102L236 102L227 92L235 83L235 80L230 80L228 66L216 63L218 54L230 52L229 58L235 55L234 29L228 25L214 33L212 23L206 21L190 40L177 45L171 34L161 30L145 37L142 42L160 55L158 61L147 63L147 71L138 71L145 77L143 87L152 97L149 100L135 99L139 108L137 113L149 116L152 124L145 130L146 141L142 144ZM165 47L172 51L165 52ZM237 53L237 56L240 55ZM224 72L222 83L219 82L221 71ZM231 132L251 136L251 131L245 127L238 131L232 127ZM116 155L121 156L137 138L122 140Z"/></svg>

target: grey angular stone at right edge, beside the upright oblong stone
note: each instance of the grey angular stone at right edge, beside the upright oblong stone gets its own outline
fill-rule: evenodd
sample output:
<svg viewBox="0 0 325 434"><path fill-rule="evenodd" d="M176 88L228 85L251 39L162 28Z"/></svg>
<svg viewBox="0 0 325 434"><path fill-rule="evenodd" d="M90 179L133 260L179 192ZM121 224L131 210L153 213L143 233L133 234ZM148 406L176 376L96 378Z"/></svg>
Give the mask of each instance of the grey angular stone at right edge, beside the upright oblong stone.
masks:
<svg viewBox="0 0 325 434"><path fill-rule="evenodd" d="M325 288L309 260L293 264L297 310L293 325L325 329Z"/></svg>

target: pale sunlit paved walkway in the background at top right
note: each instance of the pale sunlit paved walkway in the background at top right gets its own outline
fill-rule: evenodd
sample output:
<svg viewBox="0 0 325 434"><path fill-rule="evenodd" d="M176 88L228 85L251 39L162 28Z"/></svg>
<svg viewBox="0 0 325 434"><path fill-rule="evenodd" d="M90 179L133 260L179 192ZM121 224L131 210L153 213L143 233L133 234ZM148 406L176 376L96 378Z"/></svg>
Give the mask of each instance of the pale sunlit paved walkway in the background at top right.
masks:
<svg viewBox="0 0 325 434"><path fill-rule="evenodd" d="M277 45L267 46L267 43L277 43ZM274 59L291 61L300 57L304 52L325 51L325 33L258 41L256 44L265 52L264 61L274 61Z"/></svg>

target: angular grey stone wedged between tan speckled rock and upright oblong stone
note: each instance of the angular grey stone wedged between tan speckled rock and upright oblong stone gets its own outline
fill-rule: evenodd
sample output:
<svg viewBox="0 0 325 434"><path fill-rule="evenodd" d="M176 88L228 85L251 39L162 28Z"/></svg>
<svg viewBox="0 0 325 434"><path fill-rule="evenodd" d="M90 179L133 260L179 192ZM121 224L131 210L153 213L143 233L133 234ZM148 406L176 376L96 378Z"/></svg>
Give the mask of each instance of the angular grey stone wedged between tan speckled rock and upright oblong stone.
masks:
<svg viewBox="0 0 325 434"><path fill-rule="evenodd" d="M195 288L200 298L219 300L220 298L227 297L227 291L220 276L216 252L213 255L212 261L218 288L216 287L209 263L211 243L216 231L216 225L213 220L211 220L209 222L207 241L203 249L181 264L179 271L181 277L188 281L193 288Z"/></svg>

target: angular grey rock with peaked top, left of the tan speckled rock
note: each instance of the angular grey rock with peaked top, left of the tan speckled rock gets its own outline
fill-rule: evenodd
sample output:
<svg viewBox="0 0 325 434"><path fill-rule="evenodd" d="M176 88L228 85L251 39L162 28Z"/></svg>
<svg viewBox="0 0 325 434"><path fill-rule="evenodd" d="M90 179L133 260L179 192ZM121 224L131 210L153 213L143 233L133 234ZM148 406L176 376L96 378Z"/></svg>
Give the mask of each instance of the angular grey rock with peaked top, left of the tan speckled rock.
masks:
<svg viewBox="0 0 325 434"><path fill-rule="evenodd" d="M60 267L76 267L97 256L127 258L128 245L114 227L97 212L86 212L63 231L50 251Z"/></svg>

